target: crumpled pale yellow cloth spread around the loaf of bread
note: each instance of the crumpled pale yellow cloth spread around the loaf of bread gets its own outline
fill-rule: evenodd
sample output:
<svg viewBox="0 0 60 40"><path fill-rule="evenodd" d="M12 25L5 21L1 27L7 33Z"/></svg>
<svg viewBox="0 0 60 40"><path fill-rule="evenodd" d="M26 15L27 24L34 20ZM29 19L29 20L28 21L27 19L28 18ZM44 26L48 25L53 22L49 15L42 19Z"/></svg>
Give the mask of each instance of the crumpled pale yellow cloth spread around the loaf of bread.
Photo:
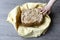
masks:
<svg viewBox="0 0 60 40"><path fill-rule="evenodd" d="M23 37L38 37L41 34L45 33L45 30L49 27L51 19L49 15L46 14L44 17L44 23L39 27L24 27L21 25L20 22L20 15L21 12L25 9L32 9L32 8L42 8L46 5L46 3L25 3L21 6L16 6L13 10L10 11L7 17L7 21L13 24L14 28L18 32L20 36Z"/></svg>

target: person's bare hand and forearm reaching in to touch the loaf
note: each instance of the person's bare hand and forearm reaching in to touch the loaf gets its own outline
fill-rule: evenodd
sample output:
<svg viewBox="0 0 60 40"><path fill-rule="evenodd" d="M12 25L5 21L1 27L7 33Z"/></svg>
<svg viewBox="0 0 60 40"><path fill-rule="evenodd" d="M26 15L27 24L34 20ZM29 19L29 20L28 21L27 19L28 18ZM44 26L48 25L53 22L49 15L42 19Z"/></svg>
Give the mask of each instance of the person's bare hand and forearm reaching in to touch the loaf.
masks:
<svg viewBox="0 0 60 40"><path fill-rule="evenodd" d="M50 9L53 6L55 1L56 0L50 0L44 8L40 9L40 11L43 13L43 15L45 15L46 13L50 13Z"/></svg>

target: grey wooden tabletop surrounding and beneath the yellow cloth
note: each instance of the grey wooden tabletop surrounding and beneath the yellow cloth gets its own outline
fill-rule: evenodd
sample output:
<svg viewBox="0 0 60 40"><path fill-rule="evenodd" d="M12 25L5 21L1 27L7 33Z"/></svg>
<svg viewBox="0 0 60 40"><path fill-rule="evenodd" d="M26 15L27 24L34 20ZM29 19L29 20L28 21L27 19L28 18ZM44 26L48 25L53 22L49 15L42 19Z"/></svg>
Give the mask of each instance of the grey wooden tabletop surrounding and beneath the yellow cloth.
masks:
<svg viewBox="0 0 60 40"><path fill-rule="evenodd" d="M52 7L52 22L45 35L38 38L22 38L12 24L6 22L8 13L17 5L26 2L48 2L49 0L0 0L0 40L60 40L60 0Z"/></svg>

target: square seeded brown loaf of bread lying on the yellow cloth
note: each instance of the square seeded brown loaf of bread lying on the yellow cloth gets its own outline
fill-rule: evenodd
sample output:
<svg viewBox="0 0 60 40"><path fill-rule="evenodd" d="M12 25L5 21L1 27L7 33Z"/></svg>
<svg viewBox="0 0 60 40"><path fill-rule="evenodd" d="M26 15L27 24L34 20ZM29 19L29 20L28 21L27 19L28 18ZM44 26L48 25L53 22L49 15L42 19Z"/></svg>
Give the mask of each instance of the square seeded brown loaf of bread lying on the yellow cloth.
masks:
<svg viewBox="0 0 60 40"><path fill-rule="evenodd" d="M21 22L25 26L40 25L42 20L43 15L37 8L22 11Z"/></svg>

